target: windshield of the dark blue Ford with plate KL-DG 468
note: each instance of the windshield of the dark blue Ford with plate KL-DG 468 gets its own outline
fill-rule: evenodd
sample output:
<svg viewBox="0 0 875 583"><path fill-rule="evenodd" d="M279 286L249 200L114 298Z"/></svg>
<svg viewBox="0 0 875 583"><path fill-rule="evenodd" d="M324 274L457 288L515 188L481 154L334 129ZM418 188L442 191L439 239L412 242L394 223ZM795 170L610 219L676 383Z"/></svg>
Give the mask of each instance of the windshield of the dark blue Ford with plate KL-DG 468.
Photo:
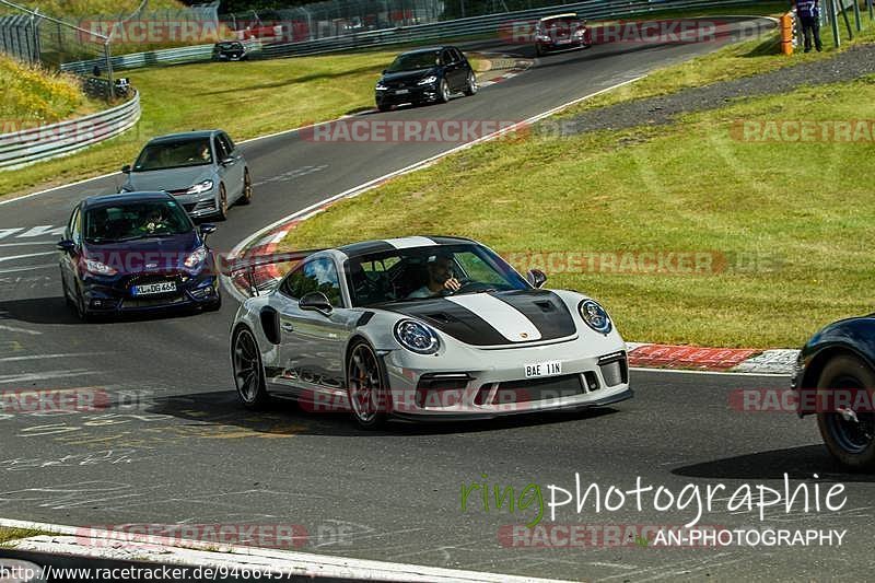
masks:
<svg viewBox="0 0 875 583"><path fill-rule="evenodd" d="M85 241L92 244L184 235L192 229L174 200L120 202L85 212Z"/></svg>

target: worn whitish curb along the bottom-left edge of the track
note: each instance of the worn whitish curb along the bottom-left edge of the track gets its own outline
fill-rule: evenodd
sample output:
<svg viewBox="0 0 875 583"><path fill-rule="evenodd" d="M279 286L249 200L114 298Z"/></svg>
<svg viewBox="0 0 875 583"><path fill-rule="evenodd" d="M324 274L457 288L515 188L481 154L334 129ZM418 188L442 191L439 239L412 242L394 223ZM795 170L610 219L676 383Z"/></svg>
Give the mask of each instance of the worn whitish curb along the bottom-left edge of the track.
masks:
<svg viewBox="0 0 875 583"><path fill-rule="evenodd" d="M222 545L198 540L160 544L154 537L114 533L57 524L42 524L0 518L0 526L56 533L13 540L5 545L15 550L68 555L93 559L153 562L189 568L236 569L255 571L265 579L310 576L355 581L409 582L556 582L559 580L514 576L462 569L445 569L409 563L351 559L292 550ZM174 541L177 543L177 541ZM271 575L266 575L271 573ZM0 576L2 579L2 576ZM256 575L255 579L258 579Z"/></svg>

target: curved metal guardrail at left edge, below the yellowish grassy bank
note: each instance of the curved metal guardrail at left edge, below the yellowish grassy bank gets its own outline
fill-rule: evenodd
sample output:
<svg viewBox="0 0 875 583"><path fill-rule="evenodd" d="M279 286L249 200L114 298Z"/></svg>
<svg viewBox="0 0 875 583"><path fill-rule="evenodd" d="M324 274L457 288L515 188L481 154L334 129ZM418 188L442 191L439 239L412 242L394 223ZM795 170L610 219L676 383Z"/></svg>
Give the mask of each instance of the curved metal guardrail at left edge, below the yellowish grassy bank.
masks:
<svg viewBox="0 0 875 583"><path fill-rule="evenodd" d="M0 135L0 170L59 158L132 128L140 119L140 94L104 112L50 126Z"/></svg>

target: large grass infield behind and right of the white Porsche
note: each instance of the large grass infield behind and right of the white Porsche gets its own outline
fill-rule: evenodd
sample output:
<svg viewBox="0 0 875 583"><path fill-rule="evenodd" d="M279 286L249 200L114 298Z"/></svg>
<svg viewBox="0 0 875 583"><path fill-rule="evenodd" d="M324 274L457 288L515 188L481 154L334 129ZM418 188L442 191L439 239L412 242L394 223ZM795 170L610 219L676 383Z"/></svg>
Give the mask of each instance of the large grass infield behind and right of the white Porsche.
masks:
<svg viewBox="0 0 875 583"><path fill-rule="evenodd" d="M283 247L444 233L505 254L713 253L730 267L662 276L545 267L548 287L602 300L629 340L800 346L827 322L872 311L872 141L754 143L733 137L739 119L875 119L875 79L668 127L483 144L329 208Z"/></svg>

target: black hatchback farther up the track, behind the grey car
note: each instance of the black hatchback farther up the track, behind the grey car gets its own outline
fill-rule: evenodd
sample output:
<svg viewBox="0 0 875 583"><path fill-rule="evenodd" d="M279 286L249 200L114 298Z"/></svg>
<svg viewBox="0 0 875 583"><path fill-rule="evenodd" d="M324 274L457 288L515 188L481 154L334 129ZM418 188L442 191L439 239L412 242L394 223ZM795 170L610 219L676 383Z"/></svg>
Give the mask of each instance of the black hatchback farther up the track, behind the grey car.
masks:
<svg viewBox="0 0 875 583"><path fill-rule="evenodd" d="M477 93L477 75L456 47L419 48L398 55L376 84L376 107L446 103L454 93Z"/></svg>

